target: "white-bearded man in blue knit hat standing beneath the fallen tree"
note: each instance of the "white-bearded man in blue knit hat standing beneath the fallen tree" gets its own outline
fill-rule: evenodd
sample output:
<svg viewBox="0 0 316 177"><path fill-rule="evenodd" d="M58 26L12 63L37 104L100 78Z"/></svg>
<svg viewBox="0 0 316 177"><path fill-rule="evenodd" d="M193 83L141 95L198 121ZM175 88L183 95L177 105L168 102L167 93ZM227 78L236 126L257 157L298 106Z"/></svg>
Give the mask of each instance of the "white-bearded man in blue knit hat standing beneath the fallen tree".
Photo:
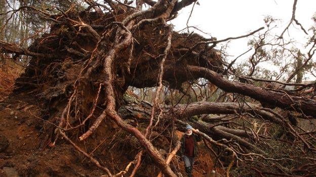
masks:
<svg viewBox="0 0 316 177"><path fill-rule="evenodd" d="M198 129L193 129L192 126L185 127L185 134L181 138L180 155L184 161L185 172L188 177L192 176L194 158L198 155L198 143L202 141L202 137L196 135ZM194 133L194 134L193 134Z"/></svg>

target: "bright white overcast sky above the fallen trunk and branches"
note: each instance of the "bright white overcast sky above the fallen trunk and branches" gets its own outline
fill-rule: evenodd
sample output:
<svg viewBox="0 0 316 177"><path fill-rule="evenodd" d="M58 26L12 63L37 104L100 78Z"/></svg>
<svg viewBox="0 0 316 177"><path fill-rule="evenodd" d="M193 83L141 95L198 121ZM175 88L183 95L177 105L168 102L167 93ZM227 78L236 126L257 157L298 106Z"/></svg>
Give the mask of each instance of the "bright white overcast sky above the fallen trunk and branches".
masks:
<svg viewBox="0 0 316 177"><path fill-rule="evenodd" d="M294 0L199 0L199 3L200 6L194 7L188 26L196 26L220 40L244 35L265 26L263 19L267 15L282 21L277 23L278 28L275 29L275 35L280 35L291 20ZM186 27L191 8L192 5L181 10L179 17L172 21L175 30ZM316 0L298 0L295 17L306 30L312 26L311 17L315 12ZM192 30L191 28L190 31ZM284 37L306 43L308 36L299 26L291 25L289 33L286 32ZM227 52L233 55L231 59L249 49L248 40L237 39L230 42ZM306 51L303 48L301 50Z"/></svg>

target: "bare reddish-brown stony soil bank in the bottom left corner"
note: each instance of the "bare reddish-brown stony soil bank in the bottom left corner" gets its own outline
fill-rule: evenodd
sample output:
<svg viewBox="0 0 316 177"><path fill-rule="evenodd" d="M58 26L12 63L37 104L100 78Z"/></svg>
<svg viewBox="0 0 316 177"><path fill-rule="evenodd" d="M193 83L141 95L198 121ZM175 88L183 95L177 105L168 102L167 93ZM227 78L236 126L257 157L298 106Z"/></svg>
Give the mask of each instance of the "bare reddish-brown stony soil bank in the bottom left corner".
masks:
<svg viewBox="0 0 316 177"><path fill-rule="evenodd" d="M70 145L48 146L43 121L30 114L38 114L39 109L29 101L9 98L0 102L0 168L13 168L20 176L99 176L101 171L89 169ZM6 176L0 171L0 176Z"/></svg>

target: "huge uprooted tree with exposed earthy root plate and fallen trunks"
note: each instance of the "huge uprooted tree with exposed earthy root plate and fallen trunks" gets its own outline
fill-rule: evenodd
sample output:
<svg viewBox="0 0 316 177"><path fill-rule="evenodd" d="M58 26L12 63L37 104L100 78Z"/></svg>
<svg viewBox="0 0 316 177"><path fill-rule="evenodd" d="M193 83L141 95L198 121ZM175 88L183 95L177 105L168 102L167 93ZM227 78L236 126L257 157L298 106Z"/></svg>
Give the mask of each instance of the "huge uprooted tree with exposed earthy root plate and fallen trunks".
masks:
<svg viewBox="0 0 316 177"><path fill-rule="evenodd" d="M194 0L136 1L135 6L127 1L85 3L88 6L72 3L67 8L52 9L22 3L10 13L33 14L49 22L50 31L36 38L28 48L0 41L2 53L15 60L20 56L30 58L25 73L16 81L15 93L36 93L42 103L45 131L51 135L53 145L62 137L108 176L113 176L105 164L80 146L81 141L99 133L102 122L111 122L136 137L142 147L135 160L116 176L135 175L143 155L150 156L164 175L177 176L176 167L169 165L179 149L174 132L183 131L181 127L190 124L201 131L207 146L220 149L218 154L210 150L216 160L224 152L228 154L229 165L222 164L227 176L234 163L244 164L261 176L315 174L315 132L305 131L297 124L298 120L315 119L315 83L302 84L299 79L312 61L315 36L310 38L311 47L304 63L297 62L298 67L288 81L256 79L252 76L258 63L268 57L264 46L277 45L264 42L269 27L253 40L255 52L249 60L249 74L242 75L233 68L234 61L228 64L215 47L230 39L254 35L263 28L217 40L173 30L169 21L182 8L195 4ZM297 22L294 15L293 8L291 23ZM298 82L291 84L295 77ZM203 94L201 88L206 91L206 86L222 90L216 101L209 98L218 89ZM295 89L289 91L285 86ZM131 98L133 94L127 92L131 87L155 87L153 102ZM199 88L200 93L194 88ZM164 89L169 94L165 94L163 103ZM185 104L181 101L183 97L187 98ZM282 130L281 135L273 137L270 128ZM169 137L174 149L165 149L169 152L167 158L152 145L152 132ZM78 139L72 136L75 134L80 134ZM302 154L292 156L278 148ZM131 164L134 168L129 170Z"/></svg>

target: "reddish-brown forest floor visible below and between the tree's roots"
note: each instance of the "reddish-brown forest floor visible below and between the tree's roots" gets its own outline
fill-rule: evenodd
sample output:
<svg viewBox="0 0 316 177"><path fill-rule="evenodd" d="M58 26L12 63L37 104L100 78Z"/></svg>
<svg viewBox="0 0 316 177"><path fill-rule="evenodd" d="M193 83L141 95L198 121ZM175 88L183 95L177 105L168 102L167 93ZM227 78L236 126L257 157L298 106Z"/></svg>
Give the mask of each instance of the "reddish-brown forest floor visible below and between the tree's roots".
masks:
<svg viewBox="0 0 316 177"><path fill-rule="evenodd" d="M4 72L0 71L2 78L6 76ZM55 145L52 144L51 135L45 133L43 126L45 121L40 117L41 109L37 106L38 100L35 99L35 95L32 93L10 95L15 75L18 74L19 72L15 72L10 75L9 80L1 80L2 83L0 83L4 87L0 90L0 176L101 176L105 174L74 150L69 143L59 140ZM9 84L4 84L4 82ZM109 129L108 124L103 127ZM102 146L94 143L98 137L80 145L86 147L87 152L94 153L94 157L100 162L109 165L113 173L124 169L126 164L133 160L128 156L134 157L136 153L128 150L131 145L112 143L113 137L120 132L119 129L115 126L111 127L111 133L107 133L106 137L102 136L104 139ZM181 136L180 132L178 134ZM126 142L124 140L122 139L122 142ZM90 148L87 146L89 143ZM196 158L193 175L213 176L214 157L203 142L199 146L201 153ZM94 152L95 147L98 147L98 150ZM93 148L95 149L92 151ZM126 155L129 153L132 155ZM103 156L103 158L98 156ZM185 176L182 161L179 158L176 161L178 162L176 166L180 168L178 174ZM136 176L155 176L159 172L150 159L144 158L143 163L147 164L142 164L143 167L140 167ZM216 168L216 170L219 169Z"/></svg>

